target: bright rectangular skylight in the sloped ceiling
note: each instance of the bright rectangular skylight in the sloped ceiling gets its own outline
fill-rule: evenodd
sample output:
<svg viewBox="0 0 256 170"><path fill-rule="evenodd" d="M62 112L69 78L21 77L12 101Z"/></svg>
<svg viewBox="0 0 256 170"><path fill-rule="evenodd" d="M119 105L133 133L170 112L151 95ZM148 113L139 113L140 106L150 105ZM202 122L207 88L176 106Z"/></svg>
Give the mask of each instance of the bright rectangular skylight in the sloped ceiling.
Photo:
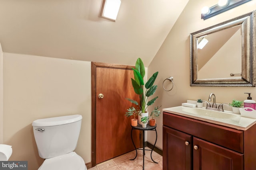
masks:
<svg viewBox="0 0 256 170"><path fill-rule="evenodd" d="M107 20L116 21L121 0L102 0L100 17Z"/></svg>

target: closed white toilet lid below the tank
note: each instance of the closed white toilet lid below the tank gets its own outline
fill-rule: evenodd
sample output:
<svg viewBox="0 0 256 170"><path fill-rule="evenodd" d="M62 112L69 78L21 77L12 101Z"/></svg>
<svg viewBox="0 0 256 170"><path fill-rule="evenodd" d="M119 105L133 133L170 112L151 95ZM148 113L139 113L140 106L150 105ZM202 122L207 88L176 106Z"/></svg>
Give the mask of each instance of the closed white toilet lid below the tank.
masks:
<svg viewBox="0 0 256 170"><path fill-rule="evenodd" d="M81 156L70 152L44 160L38 170L86 170L86 166Z"/></svg>

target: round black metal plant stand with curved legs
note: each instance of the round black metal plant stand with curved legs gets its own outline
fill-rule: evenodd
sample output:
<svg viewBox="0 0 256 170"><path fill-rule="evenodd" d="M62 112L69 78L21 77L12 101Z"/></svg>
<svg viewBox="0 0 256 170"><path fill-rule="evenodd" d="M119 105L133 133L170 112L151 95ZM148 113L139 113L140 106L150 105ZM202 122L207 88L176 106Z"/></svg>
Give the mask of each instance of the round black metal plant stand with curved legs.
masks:
<svg viewBox="0 0 256 170"><path fill-rule="evenodd" d="M133 130L141 130L142 131L142 136L143 136L143 149L140 149L140 150L143 150L143 170L144 170L144 155L145 155L145 150L149 150L149 149L145 149L145 131L156 131L156 125L155 126L150 126L150 125L147 125L146 127L142 127L142 125L138 124L138 126L132 126L132 130L131 130L131 138L132 138L132 131ZM156 132L156 140L157 140L157 132ZM135 158L137 157L137 149L136 149L136 146L134 144L134 141L132 139L132 143L134 145L134 148L136 150L136 156ZM156 145L156 141L155 141L155 144L154 144L154 147ZM153 149L154 149L153 147ZM152 152L153 152L153 149L150 149L151 150L151 159L154 163L158 164L158 162L154 161L153 158L152 158ZM130 159L130 160L134 160L135 158L133 159Z"/></svg>

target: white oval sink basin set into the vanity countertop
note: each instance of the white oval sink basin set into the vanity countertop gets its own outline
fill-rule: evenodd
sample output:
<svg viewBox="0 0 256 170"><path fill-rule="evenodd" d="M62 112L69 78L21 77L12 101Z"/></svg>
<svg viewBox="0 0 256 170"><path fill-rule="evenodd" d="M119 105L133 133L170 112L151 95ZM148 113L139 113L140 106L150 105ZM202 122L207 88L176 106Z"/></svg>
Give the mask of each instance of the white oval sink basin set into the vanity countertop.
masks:
<svg viewBox="0 0 256 170"><path fill-rule="evenodd" d="M233 118L237 117L237 115L229 114L226 112L201 109L201 108L197 108L197 107L184 108L184 109L182 109L182 111L186 111L188 113L192 113L192 114L196 114L196 115L215 117L215 118L219 118L219 119L233 119Z"/></svg>

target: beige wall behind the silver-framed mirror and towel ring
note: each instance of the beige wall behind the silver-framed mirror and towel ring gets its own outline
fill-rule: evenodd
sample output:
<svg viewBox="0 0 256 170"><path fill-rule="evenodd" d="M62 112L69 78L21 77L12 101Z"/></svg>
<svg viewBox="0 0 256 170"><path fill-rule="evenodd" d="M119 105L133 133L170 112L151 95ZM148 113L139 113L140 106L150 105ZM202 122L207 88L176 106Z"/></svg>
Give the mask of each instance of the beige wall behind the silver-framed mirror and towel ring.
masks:
<svg viewBox="0 0 256 170"><path fill-rule="evenodd" d="M216 102L218 103L229 103L234 98L245 100L246 94L244 92L252 92L252 98L256 100L255 87L190 86L190 33L256 9L256 0L253 0L208 20L201 20L201 8L203 6L213 6L217 2L216 0L190 0L166 37L166 40L148 67L149 76L156 70L159 71L157 78L159 87L156 92L159 98L154 105L162 105L162 108L180 106L187 99L196 100L201 98L208 100L210 93L216 95ZM174 78L174 88L170 92L166 92L162 88L162 82L169 76ZM156 146L162 148L162 114L156 123L159 134ZM148 141L154 143L154 140L154 133L149 132Z"/></svg>

